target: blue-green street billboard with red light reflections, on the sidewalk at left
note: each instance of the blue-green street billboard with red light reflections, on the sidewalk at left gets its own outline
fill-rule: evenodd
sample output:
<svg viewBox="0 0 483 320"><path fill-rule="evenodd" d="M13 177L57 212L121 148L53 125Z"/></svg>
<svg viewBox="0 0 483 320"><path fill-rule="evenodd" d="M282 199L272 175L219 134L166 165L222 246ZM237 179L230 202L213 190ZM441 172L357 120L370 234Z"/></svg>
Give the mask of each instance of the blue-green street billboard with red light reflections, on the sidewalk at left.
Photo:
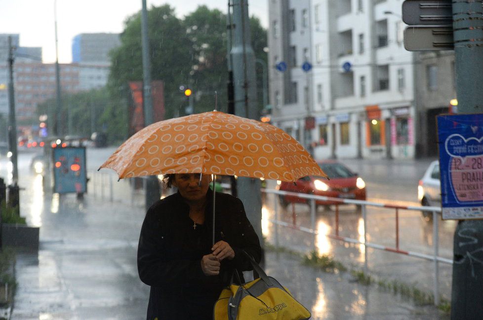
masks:
<svg viewBox="0 0 483 320"><path fill-rule="evenodd" d="M87 175L84 147L57 146L53 149L54 192L84 193Z"/></svg>

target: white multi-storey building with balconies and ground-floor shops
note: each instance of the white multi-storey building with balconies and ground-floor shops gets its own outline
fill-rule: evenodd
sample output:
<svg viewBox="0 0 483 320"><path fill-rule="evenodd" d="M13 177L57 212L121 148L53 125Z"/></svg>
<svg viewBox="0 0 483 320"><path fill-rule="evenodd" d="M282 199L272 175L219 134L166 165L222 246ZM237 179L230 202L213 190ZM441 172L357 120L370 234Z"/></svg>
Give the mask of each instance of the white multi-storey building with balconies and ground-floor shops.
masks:
<svg viewBox="0 0 483 320"><path fill-rule="evenodd" d="M273 122L316 159L414 157L414 57L401 5L269 0Z"/></svg>

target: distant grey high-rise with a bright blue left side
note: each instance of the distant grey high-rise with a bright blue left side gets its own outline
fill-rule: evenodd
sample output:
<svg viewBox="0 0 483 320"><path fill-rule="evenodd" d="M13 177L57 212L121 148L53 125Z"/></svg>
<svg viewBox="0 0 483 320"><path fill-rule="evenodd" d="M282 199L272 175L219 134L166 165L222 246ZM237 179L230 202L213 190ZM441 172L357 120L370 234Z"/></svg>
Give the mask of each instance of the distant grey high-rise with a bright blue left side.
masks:
<svg viewBox="0 0 483 320"><path fill-rule="evenodd" d="M72 62L110 65L109 51L121 44L119 34L80 34L72 39Z"/></svg>

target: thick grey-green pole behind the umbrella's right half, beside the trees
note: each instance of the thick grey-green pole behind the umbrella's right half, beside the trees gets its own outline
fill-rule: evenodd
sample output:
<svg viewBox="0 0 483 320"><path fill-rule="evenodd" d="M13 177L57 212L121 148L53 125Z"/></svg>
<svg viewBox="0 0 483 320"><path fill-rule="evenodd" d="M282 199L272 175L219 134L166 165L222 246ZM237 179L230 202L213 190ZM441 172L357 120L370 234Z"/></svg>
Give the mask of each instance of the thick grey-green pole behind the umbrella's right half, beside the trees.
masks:
<svg viewBox="0 0 483 320"><path fill-rule="evenodd" d="M259 119L255 77L255 53L251 46L248 0L229 0L228 12L233 9L232 48L229 68L233 70L235 114L249 119ZM230 66L230 63L232 66ZM241 178L237 180L238 197L243 202L248 219L260 239L262 250L262 199L260 179ZM262 264L264 255L262 251Z"/></svg>

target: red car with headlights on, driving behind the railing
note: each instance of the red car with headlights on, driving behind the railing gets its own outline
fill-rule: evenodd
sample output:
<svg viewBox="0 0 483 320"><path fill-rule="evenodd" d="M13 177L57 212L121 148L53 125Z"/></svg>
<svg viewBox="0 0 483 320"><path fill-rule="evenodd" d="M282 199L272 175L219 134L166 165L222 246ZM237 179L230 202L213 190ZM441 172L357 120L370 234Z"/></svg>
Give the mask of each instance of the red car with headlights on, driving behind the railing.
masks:
<svg viewBox="0 0 483 320"><path fill-rule="evenodd" d="M318 165L329 179L308 176L298 179L295 183L277 181L278 190L339 199L366 200L365 182L357 173L337 161L322 161L318 162ZM292 195L280 195L279 200L283 207L290 203L310 204L310 200ZM316 206L329 206L336 203L338 202L333 200L316 200Z"/></svg>

